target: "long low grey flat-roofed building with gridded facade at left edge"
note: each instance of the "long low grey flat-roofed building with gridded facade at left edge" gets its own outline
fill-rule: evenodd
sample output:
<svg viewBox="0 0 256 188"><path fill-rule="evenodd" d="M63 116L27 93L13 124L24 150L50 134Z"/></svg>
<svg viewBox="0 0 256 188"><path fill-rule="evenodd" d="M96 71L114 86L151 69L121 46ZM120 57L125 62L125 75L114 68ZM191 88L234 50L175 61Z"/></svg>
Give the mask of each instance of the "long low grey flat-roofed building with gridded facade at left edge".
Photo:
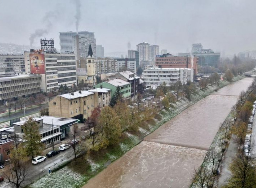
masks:
<svg viewBox="0 0 256 188"><path fill-rule="evenodd" d="M41 91L40 74L15 74L0 76L0 100L31 95Z"/></svg>

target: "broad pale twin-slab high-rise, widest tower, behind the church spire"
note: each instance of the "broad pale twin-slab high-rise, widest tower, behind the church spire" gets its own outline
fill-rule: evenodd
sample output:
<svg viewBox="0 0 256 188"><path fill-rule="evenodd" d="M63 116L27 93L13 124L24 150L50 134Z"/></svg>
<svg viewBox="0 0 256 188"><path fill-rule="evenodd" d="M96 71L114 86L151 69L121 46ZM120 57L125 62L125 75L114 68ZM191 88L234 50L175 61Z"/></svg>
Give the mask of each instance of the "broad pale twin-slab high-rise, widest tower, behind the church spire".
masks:
<svg viewBox="0 0 256 188"><path fill-rule="evenodd" d="M72 31L59 33L61 53L74 52L76 54L77 48L79 48L80 57L86 58L89 44L91 43L94 57L96 57L96 39L94 37L94 32L79 31L79 45L77 45L76 35L77 33Z"/></svg>

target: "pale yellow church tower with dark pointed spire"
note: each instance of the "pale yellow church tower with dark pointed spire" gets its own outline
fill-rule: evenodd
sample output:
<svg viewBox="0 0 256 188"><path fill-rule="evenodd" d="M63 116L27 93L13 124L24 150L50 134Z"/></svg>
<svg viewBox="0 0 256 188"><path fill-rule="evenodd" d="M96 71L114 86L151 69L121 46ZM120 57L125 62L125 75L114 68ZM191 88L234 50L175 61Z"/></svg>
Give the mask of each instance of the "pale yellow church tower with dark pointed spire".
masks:
<svg viewBox="0 0 256 188"><path fill-rule="evenodd" d="M86 58L86 64L87 64L87 83L90 83L92 85L95 85L96 78L95 78L95 62L94 62L94 56L92 53L92 47L91 43L89 45L88 55Z"/></svg>

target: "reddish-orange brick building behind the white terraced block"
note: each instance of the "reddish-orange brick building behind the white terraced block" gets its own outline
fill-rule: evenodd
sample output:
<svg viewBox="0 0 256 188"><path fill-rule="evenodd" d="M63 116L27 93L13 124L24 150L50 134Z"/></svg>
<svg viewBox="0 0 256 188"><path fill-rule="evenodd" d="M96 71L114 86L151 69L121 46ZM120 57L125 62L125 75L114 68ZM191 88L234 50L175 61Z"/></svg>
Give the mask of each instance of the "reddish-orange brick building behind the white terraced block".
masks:
<svg viewBox="0 0 256 188"><path fill-rule="evenodd" d="M191 68L193 64L194 75L197 74L198 57L173 56L170 53L156 57L156 66L159 68Z"/></svg>

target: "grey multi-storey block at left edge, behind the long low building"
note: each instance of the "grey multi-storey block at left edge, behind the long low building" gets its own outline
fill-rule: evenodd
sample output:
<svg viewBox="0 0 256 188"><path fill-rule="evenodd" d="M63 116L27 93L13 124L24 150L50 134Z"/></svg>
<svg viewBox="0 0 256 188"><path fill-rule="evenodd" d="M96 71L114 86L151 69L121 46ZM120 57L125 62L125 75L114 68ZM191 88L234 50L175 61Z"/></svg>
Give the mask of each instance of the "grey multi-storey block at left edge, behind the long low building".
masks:
<svg viewBox="0 0 256 188"><path fill-rule="evenodd" d="M24 55L0 55L0 74L25 72Z"/></svg>

